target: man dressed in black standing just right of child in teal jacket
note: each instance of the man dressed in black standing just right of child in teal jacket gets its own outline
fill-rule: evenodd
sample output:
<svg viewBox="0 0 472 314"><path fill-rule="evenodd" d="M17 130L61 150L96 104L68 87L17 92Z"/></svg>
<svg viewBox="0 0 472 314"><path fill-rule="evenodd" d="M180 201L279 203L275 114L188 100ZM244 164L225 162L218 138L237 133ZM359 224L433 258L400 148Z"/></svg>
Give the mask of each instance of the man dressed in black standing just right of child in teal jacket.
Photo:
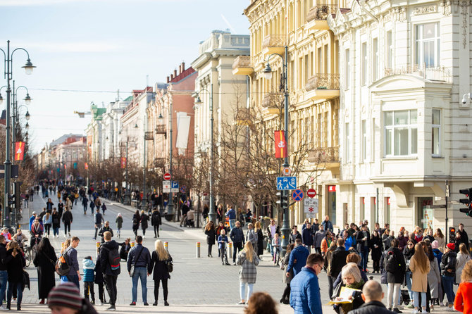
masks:
<svg viewBox="0 0 472 314"><path fill-rule="evenodd" d="M120 275L120 254L118 253L118 243L111 239L111 232L104 233L104 244L100 246L100 267L104 274L104 282L108 296L110 296L110 307L106 310L116 310L116 280Z"/></svg>

